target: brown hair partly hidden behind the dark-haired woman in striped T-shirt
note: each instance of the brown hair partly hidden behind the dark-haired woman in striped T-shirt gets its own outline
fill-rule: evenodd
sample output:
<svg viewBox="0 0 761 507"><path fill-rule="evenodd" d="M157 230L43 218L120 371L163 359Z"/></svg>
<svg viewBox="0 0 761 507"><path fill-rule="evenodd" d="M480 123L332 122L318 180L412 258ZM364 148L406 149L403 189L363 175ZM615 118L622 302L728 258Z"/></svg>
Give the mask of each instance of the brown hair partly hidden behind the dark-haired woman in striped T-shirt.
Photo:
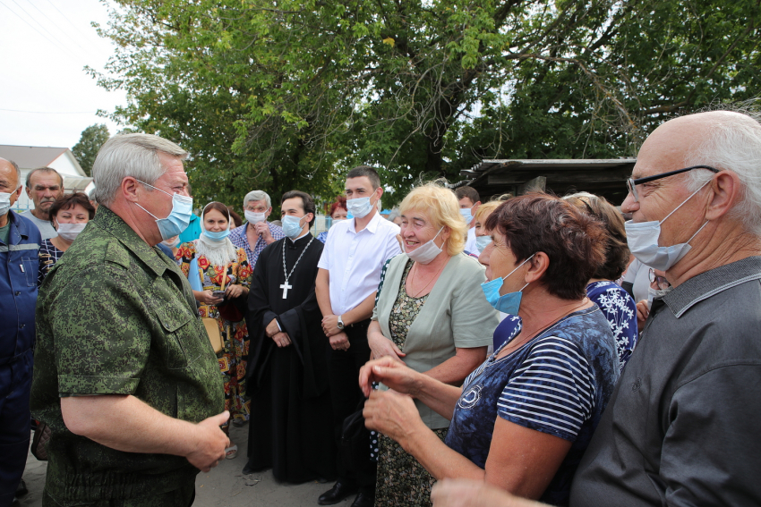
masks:
<svg viewBox="0 0 761 507"><path fill-rule="evenodd" d="M617 280L628 266L630 256L626 242L624 219L605 198L587 192L578 192L564 197L581 211L593 215L608 231L605 247L605 263L594 273L594 278Z"/></svg>

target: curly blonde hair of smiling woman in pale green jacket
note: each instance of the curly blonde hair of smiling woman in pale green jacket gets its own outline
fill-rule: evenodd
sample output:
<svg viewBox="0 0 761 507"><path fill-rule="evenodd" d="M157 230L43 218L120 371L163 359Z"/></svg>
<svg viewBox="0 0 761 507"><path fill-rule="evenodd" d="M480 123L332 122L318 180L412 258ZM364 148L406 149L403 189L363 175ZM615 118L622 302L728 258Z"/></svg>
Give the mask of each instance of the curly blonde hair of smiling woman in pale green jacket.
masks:
<svg viewBox="0 0 761 507"><path fill-rule="evenodd" d="M399 215L406 215L411 209L427 215L437 231L441 227L449 229L449 238L444 242L444 247L450 257L465 249L467 224L463 215L460 215L457 197L452 190L435 182L417 187L399 205Z"/></svg>

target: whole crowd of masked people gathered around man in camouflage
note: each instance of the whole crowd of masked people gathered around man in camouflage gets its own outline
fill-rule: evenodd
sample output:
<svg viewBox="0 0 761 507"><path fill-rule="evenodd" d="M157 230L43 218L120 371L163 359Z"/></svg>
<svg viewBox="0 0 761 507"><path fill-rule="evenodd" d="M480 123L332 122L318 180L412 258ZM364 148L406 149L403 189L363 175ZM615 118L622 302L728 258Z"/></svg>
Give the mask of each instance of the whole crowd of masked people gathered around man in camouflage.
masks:
<svg viewBox="0 0 761 507"><path fill-rule="evenodd" d="M761 503L756 116L663 123L620 209L431 182L387 219L360 165L317 236L186 156L117 135L92 201L0 159L0 507L32 424L51 506L191 505L239 452L320 505Z"/></svg>

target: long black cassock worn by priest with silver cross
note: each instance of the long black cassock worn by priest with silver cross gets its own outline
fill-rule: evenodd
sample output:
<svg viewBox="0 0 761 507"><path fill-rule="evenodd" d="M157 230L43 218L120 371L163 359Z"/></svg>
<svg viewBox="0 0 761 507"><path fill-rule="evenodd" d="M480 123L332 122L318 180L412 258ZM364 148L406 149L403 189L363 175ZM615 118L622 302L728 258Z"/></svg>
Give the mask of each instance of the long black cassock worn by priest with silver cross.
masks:
<svg viewBox="0 0 761 507"><path fill-rule="evenodd" d="M336 448L328 388L329 340L314 293L322 243L312 234L275 241L261 251L253 269L246 324L251 339L246 391L251 396L248 465L272 468L276 479L302 483L336 476ZM290 274L283 272L283 245ZM273 318L291 338L279 348L264 330Z"/></svg>

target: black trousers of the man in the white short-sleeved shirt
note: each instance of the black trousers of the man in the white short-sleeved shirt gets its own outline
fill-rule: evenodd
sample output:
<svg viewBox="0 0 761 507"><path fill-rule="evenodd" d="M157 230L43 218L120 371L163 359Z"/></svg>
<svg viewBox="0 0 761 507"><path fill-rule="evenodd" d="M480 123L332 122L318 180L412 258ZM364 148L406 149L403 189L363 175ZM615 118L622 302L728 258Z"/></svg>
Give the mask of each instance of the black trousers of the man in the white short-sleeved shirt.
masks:
<svg viewBox="0 0 761 507"><path fill-rule="evenodd" d="M349 339L348 351L331 351L330 354L330 396L333 402L333 418L336 430L336 444L340 448L341 427L344 419L353 414L363 393L359 388L359 369L370 359L367 344L367 327L370 319L346 326L344 332ZM368 449L370 443L368 442ZM364 491L375 489L375 463L370 461L368 452L366 466L349 469L338 454L338 480L348 485L356 485Z"/></svg>

